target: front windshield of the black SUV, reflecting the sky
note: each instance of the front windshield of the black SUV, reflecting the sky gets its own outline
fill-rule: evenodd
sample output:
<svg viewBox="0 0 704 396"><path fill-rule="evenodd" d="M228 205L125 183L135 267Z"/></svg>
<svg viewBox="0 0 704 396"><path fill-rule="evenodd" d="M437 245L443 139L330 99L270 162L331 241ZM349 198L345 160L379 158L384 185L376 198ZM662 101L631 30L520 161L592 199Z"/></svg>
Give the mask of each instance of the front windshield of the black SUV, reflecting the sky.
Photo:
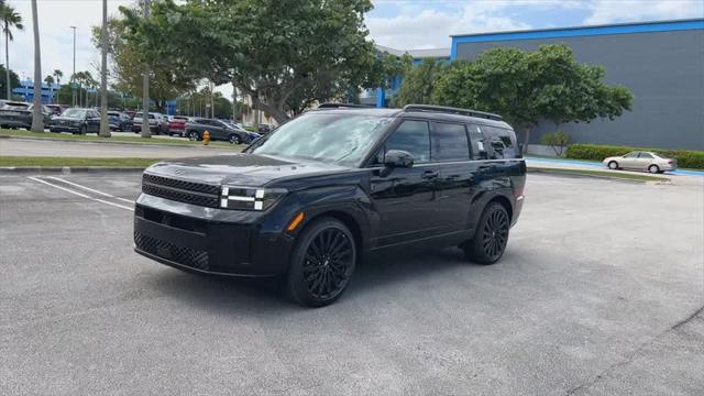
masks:
<svg viewBox="0 0 704 396"><path fill-rule="evenodd" d="M359 165L392 119L309 113L282 125L251 152Z"/></svg>

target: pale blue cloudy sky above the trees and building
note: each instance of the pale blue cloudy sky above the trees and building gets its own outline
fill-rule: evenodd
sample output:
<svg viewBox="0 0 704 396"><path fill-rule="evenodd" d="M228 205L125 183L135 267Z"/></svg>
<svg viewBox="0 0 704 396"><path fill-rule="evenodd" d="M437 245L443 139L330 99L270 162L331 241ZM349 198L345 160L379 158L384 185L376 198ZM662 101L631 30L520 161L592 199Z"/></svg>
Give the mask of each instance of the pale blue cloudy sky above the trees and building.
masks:
<svg viewBox="0 0 704 396"><path fill-rule="evenodd" d="M24 20L24 31L10 43L10 67L20 78L33 76L30 0L6 0ZM300 0L305 1L305 0ZM109 14L132 0L108 0ZM450 46L451 34L580 26L605 23L704 18L704 0L373 0L365 18L377 44L397 50ZM101 0L38 0L42 75L54 69L66 78L73 70L76 26L76 70L98 75L100 54L90 28L101 22ZM2 36L4 40L4 36ZM2 48L4 43L1 44ZM4 64L4 56L1 57ZM230 87L220 87L228 97Z"/></svg>

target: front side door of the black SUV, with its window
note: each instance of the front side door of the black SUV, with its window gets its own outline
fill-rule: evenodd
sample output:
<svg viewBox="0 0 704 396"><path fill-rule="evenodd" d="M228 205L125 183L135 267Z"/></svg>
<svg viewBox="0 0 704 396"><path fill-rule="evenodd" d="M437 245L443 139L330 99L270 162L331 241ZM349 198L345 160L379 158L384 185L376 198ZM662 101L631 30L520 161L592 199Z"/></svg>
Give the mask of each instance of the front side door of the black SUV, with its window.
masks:
<svg viewBox="0 0 704 396"><path fill-rule="evenodd" d="M430 163L430 130L427 121L405 120L377 155L383 163L389 150L407 151L414 156L409 168L383 167L373 170L371 197L378 213L377 246L400 244L432 237L442 228L435 205L438 167Z"/></svg>

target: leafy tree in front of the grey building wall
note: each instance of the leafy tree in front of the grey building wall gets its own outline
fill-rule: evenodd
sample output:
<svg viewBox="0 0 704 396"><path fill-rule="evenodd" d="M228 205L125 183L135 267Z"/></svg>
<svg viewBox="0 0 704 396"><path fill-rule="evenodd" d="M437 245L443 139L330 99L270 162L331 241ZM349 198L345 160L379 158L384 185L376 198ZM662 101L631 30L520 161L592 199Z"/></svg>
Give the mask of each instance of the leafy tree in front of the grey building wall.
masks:
<svg viewBox="0 0 704 396"><path fill-rule="evenodd" d="M438 81L433 101L504 116L522 130L525 150L541 121L613 120L630 110L630 91L605 85L603 77L603 67L578 64L564 45L541 45L537 52L493 48L474 62L455 63Z"/></svg>

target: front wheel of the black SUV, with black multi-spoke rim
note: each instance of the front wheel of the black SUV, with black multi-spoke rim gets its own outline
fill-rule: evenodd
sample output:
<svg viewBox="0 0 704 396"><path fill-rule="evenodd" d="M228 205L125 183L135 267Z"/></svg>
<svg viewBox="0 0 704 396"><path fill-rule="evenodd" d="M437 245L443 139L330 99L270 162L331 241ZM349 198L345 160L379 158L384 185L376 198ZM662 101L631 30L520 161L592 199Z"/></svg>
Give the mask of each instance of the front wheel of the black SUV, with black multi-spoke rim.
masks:
<svg viewBox="0 0 704 396"><path fill-rule="evenodd" d="M324 307L346 289L354 273L356 244L339 220L316 220L298 235L286 275L286 292L306 307Z"/></svg>

